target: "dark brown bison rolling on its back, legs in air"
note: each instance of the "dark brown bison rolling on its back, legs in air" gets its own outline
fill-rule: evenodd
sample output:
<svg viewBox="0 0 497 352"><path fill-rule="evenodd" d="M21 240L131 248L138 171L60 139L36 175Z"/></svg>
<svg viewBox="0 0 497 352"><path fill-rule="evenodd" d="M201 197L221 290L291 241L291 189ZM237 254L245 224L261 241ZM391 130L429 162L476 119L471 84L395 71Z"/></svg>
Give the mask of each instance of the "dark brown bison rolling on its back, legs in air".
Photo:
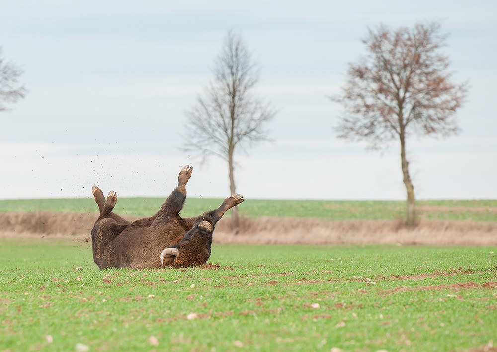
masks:
<svg viewBox="0 0 497 352"><path fill-rule="evenodd" d="M103 192L93 186L100 216L91 230L91 240L93 260L100 269L191 267L209 259L216 223L228 209L244 199L242 195L234 194L218 209L197 217L179 216L192 170L189 166L181 170L178 186L154 216L133 222L112 212L117 203L116 193L111 191L105 199Z"/></svg>

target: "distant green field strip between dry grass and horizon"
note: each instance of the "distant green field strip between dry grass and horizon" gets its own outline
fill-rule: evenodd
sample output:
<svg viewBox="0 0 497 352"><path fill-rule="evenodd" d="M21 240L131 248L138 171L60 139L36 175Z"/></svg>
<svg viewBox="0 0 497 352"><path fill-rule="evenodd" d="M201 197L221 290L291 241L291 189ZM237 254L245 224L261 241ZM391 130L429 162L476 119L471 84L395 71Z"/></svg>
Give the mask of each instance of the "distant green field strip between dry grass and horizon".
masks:
<svg viewBox="0 0 497 352"><path fill-rule="evenodd" d="M143 217L158 211L164 198L119 198L114 211ZM182 211L194 216L217 208L222 199L188 198ZM417 201L418 216L441 220L497 221L497 200L430 200ZM91 198L0 200L0 212L6 211L97 212ZM329 221L370 219L404 219L404 201L323 201L247 199L239 206L242 215L316 217Z"/></svg>

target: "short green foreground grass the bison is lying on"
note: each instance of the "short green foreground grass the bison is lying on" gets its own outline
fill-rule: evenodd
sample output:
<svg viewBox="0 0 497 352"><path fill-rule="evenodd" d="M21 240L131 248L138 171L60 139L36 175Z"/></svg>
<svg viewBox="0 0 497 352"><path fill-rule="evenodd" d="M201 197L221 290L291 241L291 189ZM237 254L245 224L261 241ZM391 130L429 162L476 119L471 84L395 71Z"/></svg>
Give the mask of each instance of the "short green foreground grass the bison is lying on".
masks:
<svg viewBox="0 0 497 352"><path fill-rule="evenodd" d="M88 243L0 240L0 351L483 348L497 341L496 253L215 245L218 269L100 271Z"/></svg>

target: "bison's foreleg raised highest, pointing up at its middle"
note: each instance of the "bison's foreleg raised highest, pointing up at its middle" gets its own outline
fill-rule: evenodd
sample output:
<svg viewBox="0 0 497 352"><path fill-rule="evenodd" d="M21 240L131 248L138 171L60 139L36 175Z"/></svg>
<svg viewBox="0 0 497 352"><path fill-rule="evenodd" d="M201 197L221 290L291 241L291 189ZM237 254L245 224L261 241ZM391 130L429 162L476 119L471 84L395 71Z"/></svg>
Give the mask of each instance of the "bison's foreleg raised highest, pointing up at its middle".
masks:
<svg viewBox="0 0 497 352"><path fill-rule="evenodd" d="M186 200L186 183L191 177L193 167L186 165L181 169L178 176L178 186L167 197L161 209L155 215L152 227L162 226L171 216L179 214Z"/></svg>

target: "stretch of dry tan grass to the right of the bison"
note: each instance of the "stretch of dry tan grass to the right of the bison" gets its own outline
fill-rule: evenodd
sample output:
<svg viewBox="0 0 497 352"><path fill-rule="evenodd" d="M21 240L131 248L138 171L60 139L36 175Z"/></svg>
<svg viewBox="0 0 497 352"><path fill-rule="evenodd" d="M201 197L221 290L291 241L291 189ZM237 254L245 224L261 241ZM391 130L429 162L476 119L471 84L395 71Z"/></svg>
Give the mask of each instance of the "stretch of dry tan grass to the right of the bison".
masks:
<svg viewBox="0 0 497 352"><path fill-rule="evenodd" d="M244 219L234 235L229 222L223 220L216 227L215 243L497 245L496 222L422 219L417 227L406 228L400 220L261 217Z"/></svg>

